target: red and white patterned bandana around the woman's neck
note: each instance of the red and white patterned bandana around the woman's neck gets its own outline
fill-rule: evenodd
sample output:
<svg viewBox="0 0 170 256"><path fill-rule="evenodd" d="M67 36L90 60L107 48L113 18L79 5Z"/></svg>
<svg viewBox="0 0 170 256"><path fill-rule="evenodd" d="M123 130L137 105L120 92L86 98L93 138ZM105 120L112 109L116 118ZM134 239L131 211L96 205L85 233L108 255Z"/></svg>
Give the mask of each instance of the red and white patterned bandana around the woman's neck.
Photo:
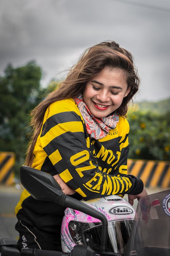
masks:
<svg viewBox="0 0 170 256"><path fill-rule="evenodd" d="M119 122L119 115L113 114L103 118L97 118L93 116L88 109L86 103L83 100L82 94L77 98L73 97L75 103L77 104L80 113L84 119L86 125L87 133L90 138L99 140L107 136L109 130L115 129L117 123Z"/></svg>

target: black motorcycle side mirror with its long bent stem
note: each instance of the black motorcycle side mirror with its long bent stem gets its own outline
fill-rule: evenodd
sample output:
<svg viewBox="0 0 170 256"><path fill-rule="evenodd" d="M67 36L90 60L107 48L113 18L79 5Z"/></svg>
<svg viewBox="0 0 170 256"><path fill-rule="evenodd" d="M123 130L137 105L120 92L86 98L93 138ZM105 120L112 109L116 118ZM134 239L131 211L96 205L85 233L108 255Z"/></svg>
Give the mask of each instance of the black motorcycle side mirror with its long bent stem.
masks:
<svg viewBox="0 0 170 256"><path fill-rule="evenodd" d="M108 224L105 215L87 204L65 195L61 187L55 181L54 177L47 172L37 169L22 166L20 168L20 180L23 187L31 194L34 199L53 201L65 207L69 207L81 212L84 212L92 217L98 218L102 222L101 234L101 255L107 255L107 234ZM109 254L115 255L115 254Z"/></svg>

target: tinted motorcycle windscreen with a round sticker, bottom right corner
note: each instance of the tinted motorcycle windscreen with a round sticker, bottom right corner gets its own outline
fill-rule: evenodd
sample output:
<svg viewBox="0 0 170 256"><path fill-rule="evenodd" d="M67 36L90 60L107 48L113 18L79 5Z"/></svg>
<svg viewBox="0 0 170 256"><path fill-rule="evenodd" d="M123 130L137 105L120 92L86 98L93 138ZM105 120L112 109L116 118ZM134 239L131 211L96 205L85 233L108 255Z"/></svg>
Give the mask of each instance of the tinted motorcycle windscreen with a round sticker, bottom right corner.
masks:
<svg viewBox="0 0 170 256"><path fill-rule="evenodd" d="M125 256L170 255L170 189L140 198Z"/></svg>

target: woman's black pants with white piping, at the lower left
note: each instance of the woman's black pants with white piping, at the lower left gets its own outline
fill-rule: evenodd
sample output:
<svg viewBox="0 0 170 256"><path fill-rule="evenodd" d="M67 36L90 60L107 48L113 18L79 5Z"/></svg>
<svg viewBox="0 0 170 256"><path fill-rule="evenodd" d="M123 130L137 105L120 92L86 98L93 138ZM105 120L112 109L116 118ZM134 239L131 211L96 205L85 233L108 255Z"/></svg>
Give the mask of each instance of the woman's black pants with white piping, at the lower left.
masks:
<svg viewBox="0 0 170 256"><path fill-rule="evenodd" d="M19 240L17 242L17 249L19 251L22 248L62 251L61 238L43 233L36 227L29 226L21 220L18 220L15 229L19 232Z"/></svg>

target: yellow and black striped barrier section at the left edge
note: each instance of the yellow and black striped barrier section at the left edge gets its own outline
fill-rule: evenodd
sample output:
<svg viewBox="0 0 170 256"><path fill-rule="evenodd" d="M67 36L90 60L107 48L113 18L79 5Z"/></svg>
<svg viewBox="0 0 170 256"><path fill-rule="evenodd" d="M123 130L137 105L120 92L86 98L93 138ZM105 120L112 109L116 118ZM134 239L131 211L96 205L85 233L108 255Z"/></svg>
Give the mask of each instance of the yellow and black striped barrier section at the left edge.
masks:
<svg viewBox="0 0 170 256"><path fill-rule="evenodd" d="M14 164L15 154L13 152L0 152L0 184L12 185L14 183Z"/></svg>

